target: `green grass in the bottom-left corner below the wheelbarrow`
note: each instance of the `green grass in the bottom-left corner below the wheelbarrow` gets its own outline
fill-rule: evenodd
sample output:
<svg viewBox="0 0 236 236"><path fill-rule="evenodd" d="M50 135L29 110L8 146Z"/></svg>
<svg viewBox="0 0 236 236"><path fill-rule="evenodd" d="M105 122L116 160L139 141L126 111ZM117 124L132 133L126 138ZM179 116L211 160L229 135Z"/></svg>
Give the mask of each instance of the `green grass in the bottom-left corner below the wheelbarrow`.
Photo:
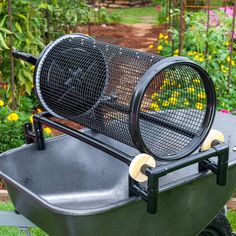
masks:
<svg viewBox="0 0 236 236"><path fill-rule="evenodd" d="M12 211L14 210L14 206L11 202L1 202L0 210ZM39 228L30 228L29 231L31 236L48 236ZM0 226L0 236L25 236L25 233L19 230L17 227Z"/></svg>

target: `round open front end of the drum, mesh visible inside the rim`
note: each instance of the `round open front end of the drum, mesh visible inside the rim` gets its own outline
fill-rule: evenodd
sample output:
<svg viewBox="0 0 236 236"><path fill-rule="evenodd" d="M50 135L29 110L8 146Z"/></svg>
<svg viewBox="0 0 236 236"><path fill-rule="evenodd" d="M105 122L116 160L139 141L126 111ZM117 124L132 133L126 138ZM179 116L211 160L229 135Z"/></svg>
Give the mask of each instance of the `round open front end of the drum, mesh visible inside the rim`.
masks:
<svg viewBox="0 0 236 236"><path fill-rule="evenodd" d="M141 103L139 127L146 148L165 158L189 150L203 132L206 107L206 91L196 70L188 65L164 69L153 78Z"/></svg>

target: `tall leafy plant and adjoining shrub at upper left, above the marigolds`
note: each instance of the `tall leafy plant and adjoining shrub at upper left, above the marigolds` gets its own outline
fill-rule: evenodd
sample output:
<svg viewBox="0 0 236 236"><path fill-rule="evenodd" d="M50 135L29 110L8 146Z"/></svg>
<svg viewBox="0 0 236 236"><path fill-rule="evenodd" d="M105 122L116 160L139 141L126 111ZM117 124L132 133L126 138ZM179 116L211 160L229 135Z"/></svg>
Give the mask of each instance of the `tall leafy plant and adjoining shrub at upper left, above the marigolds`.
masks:
<svg viewBox="0 0 236 236"><path fill-rule="evenodd" d="M38 56L45 44L61 34L70 32L71 27L88 18L88 8L80 0L15 0L12 1L13 23L9 29L8 1L0 3L0 81L6 83L5 97L12 102L10 79L10 35L13 47ZM23 95L32 95L34 66L15 60L15 87L17 103Z"/></svg>

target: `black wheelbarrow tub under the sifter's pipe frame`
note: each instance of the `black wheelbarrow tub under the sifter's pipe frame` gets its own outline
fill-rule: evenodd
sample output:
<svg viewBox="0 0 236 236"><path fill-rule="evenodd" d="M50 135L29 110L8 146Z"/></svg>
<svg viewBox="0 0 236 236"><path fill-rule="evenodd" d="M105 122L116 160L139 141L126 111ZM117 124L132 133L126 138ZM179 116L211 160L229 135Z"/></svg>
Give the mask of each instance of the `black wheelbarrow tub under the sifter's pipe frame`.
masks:
<svg viewBox="0 0 236 236"><path fill-rule="evenodd" d="M236 145L236 118L217 114L230 150ZM124 144L84 129L93 137L137 154ZM25 145L0 155L0 171L16 209L50 235L198 234L223 208L236 188L236 153L230 151L227 185L192 165L161 178L157 214L128 196L128 166L72 137L46 142L44 151Z"/></svg>

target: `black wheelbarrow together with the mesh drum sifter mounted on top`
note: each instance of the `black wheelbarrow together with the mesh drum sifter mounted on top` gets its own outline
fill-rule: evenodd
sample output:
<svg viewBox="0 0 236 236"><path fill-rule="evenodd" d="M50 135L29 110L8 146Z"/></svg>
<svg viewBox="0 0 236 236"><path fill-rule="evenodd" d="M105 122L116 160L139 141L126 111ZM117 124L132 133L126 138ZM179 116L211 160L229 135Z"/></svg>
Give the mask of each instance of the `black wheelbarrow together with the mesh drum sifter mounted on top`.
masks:
<svg viewBox="0 0 236 236"><path fill-rule="evenodd" d="M127 56L128 49L123 52L107 44L93 52L97 45L90 38L73 35L50 44L39 59L15 52L16 57L36 64L36 94L46 109L34 115L33 127L25 125L27 145L0 155L0 175L15 208L49 235L201 234L222 212L236 187L235 117L217 113L214 119L211 80L190 60L166 60L133 51ZM63 60L56 55L60 62L56 61L53 50L62 51ZM117 53L125 55L128 64L122 64ZM83 55L86 60L74 68L74 61ZM142 65L149 68L142 81L149 81L124 83L120 78L127 73L129 80L132 73L135 80L140 78L139 70L131 68L140 67L140 60L146 60ZM115 83L110 77L117 72L112 68L117 62L119 79ZM129 71L124 69L126 65ZM193 83L172 92L182 93L186 99L185 89L198 89L206 94L201 96L205 105L178 105L168 100L170 104L161 111L153 107L153 91L166 99L177 85L165 82L166 77L183 80L182 72L188 79L193 75ZM135 87L134 92L128 85ZM74 104L76 96L80 100ZM190 98L196 99L194 95ZM89 128L78 131L52 117ZM222 133L209 133L212 123ZM45 140L42 125L65 134ZM159 133L153 134L153 130ZM205 233L229 235L230 228L225 228L212 231L208 227Z"/></svg>

